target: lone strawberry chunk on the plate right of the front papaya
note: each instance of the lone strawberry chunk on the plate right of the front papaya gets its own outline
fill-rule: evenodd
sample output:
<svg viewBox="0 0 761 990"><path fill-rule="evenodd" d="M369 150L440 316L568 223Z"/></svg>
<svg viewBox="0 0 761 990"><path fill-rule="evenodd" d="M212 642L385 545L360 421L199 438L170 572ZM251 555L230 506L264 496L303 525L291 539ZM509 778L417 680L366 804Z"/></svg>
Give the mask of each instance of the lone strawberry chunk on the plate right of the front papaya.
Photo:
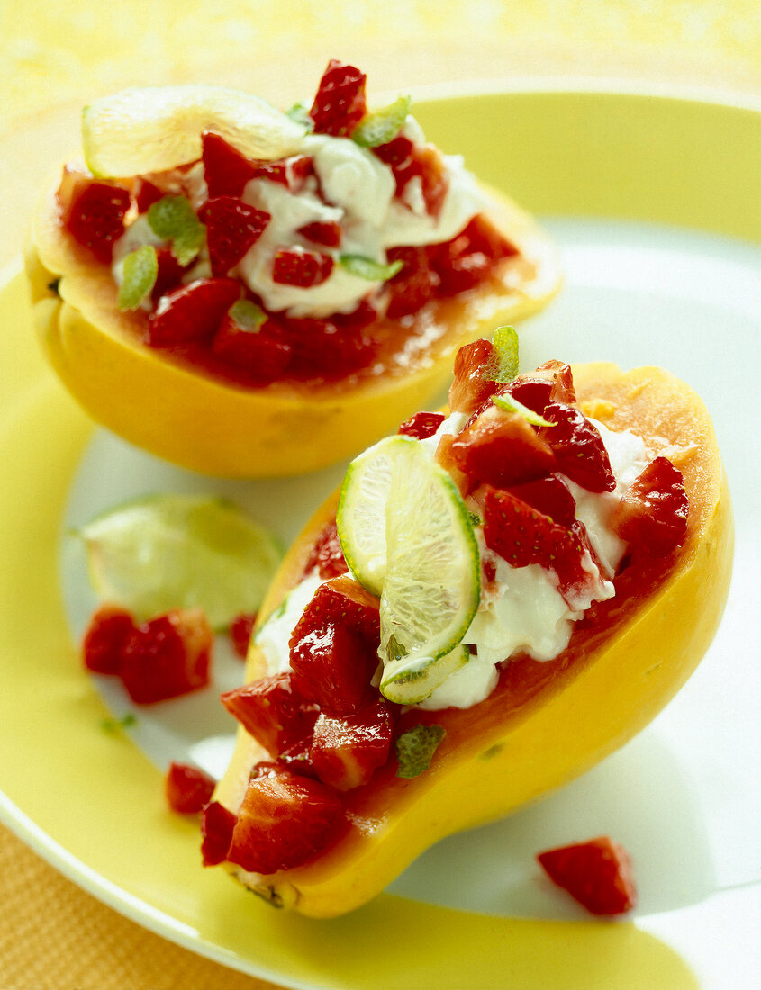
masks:
<svg viewBox="0 0 761 990"><path fill-rule="evenodd" d="M548 849L536 858L553 883L592 914L621 915L636 904L628 853L607 836Z"/></svg>

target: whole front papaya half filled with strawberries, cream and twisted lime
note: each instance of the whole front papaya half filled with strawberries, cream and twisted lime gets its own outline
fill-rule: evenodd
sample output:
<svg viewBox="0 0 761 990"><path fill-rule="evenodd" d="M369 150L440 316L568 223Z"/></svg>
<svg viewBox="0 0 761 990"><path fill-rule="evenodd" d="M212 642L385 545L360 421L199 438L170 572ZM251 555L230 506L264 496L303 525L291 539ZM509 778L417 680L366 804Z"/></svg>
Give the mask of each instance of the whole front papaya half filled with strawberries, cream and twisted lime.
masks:
<svg viewBox="0 0 761 990"><path fill-rule="evenodd" d="M582 773L707 649L732 519L700 398L655 367L460 349L448 414L350 465L286 555L204 862L329 917Z"/></svg>

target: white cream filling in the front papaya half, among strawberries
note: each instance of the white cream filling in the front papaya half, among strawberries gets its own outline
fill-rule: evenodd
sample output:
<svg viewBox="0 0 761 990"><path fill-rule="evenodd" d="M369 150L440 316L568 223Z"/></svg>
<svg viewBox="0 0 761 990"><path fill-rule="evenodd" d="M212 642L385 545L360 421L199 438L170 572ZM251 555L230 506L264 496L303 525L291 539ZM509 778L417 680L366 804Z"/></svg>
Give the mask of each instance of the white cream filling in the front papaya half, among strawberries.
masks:
<svg viewBox="0 0 761 990"><path fill-rule="evenodd" d="M453 414L426 440L419 441L433 456L445 434L457 434L467 417ZM477 527L482 561L489 560L494 578L485 582L481 602L463 643L471 646L472 656L465 666L453 673L440 687L415 708L470 708L489 697L497 682L497 664L516 653L527 653L536 660L551 660L571 640L574 623L581 619L593 602L605 601L615 594L610 578L620 563L626 544L611 530L610 515L622 493L647 466L650 456L641 437L630 431L614 433L597 420L602 443L610 459L616 485L612 492L596 494L568 478L577 503L577 518L584 523L590 542L598 554L603 573L591 554L585 554L584 568L589 574L569 606L558 590L555 575L539 564L512 567L494 553L484 541L483 527ZM269 672L289 669L288 640L303 610L321 583L312 571L285 599L283 605L257 635L257 643L267 658Z"/></svg>

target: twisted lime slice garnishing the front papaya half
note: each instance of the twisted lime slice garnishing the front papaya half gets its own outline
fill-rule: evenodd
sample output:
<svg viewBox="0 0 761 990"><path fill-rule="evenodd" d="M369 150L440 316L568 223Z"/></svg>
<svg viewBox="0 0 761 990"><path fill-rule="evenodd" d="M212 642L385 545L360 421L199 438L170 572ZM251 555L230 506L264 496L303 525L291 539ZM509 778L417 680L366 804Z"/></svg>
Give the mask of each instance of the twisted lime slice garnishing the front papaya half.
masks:
<svg viewBox="0 0 761 990"><path fill-rule="evenodd" d="M462 496L418 441L389 437L350 465L337 523L349 566L380 595L380 691L422 701L470 656L460 641L481 562Z"/></svg>

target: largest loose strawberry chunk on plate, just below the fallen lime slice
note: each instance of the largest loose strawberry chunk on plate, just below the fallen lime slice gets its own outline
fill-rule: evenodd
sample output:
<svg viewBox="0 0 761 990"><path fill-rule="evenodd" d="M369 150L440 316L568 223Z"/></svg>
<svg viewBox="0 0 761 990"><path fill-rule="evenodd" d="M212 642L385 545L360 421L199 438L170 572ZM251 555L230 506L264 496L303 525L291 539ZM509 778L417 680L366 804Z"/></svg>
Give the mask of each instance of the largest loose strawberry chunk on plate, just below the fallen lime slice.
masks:
<svg viewBox="0 0 761 990"><path fill-rule="evenodd" d="M132 700L149 704L205 687L212 640L200 609L176 609L138 626L120 670Z"/></svg>

